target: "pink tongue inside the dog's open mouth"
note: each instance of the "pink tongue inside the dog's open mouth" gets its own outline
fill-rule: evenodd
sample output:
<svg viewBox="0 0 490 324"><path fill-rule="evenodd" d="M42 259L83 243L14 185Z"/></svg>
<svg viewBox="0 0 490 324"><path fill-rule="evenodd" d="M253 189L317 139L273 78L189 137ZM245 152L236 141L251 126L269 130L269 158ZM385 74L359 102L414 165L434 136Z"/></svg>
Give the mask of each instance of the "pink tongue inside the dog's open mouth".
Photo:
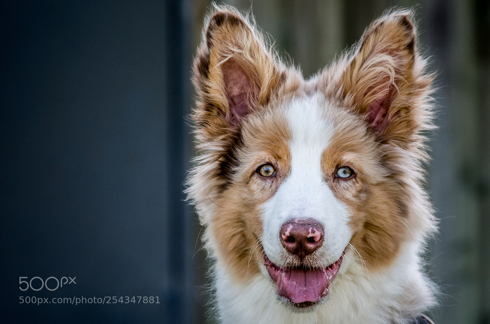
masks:
<svg viewBox="0 0 490 324"><path fill-rule="evenodd" d="M278 294L294 303L319 301L330 284L325 269L283 269L276 282Z"/></svg>

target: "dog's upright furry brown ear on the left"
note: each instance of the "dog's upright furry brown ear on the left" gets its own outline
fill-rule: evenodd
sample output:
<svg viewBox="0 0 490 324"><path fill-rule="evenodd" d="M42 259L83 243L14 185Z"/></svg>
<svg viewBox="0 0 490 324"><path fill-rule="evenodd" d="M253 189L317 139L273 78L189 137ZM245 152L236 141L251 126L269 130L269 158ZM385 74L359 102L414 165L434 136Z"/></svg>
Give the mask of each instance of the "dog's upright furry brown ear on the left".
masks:
<svg viewBox="0 0 490 324"><path fill-rule="evenodd" d="M215 6L194 62L194 115L207 139L237 130L280 81L272 49L237 11Z"/></svg>

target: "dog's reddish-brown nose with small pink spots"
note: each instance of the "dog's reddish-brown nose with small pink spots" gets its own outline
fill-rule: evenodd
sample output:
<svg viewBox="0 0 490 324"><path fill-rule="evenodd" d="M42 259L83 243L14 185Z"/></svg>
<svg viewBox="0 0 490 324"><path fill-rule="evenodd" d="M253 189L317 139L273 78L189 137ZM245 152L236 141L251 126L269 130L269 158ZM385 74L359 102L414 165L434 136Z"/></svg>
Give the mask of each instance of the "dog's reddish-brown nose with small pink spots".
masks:
<svg viewBox="0 0 490 324"><path fill-rule="evenodd" d="M302 260L323 244L323 225L313 219L291 220L281 226L282 246Z"/></svg>

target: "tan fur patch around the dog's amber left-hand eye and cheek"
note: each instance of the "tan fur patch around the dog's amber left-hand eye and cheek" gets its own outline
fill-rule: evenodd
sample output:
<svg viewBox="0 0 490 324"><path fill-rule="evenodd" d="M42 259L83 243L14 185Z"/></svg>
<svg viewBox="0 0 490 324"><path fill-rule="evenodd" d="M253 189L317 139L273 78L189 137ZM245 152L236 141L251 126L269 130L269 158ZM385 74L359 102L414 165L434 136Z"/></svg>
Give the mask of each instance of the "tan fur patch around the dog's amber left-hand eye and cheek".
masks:
<svg viewBox="0 0 490 324"><path fill-rule="evenodd" d="M270 111L251 118L242 134L244 142L253 144L239 150L232 185L216 201L220 209L213 215L210 231L230 273L246 280L258 274L257 266L263 262L257 241L262 234L258 207L272 197L290 166L289 131ZM254 174L266 162L276 167L273 179Z"/></svg>

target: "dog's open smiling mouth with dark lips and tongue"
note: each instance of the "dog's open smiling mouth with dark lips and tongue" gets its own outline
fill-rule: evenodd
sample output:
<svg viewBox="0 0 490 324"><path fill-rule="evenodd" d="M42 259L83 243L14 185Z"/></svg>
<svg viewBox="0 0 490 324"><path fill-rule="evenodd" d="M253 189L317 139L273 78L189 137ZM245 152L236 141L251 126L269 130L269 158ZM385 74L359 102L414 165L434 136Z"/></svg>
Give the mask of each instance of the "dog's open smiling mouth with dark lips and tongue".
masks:
<svg viewBox="0 0 490 324"><path fill-rule="evenodd" d="M279 267L264 254L264 265L277 284L277 294L296 307L305 308L318 303L328 294L328 288L339 272L342 256L325 268L301 269Z"/></svg>

